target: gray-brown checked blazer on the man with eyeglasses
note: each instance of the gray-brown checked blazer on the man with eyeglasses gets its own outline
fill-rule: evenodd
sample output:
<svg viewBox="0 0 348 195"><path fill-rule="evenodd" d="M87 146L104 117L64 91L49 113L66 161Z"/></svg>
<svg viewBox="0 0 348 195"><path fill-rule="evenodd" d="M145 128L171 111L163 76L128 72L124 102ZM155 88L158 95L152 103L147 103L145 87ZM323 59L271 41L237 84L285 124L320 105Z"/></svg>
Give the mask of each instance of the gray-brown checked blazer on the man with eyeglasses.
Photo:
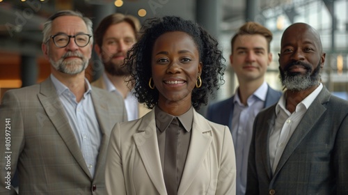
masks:
<svg viewBox="0 0 348 195"><path fill-rule="evenodd" d="M11 177L18 171L21 195L106 194L104 168L109 136L116 122L127 120L127 113L120 96L95 87L90 94L102 132L95 176L88 171L51 79L3 95L0 194L16 194L14 189L6 189L7 171ZM10 118L10 150L4 143L6 118ZM10 155L10 170L4 169L4 155Z"/></svg>

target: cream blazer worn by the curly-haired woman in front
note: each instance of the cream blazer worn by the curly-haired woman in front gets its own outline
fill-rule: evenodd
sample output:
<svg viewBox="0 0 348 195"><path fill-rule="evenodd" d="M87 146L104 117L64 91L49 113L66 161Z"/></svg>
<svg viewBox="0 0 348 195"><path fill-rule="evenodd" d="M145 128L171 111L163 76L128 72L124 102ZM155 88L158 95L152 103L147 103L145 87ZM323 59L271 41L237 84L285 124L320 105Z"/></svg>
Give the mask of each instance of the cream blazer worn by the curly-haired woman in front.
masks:
<svg viewBox="0 0 348 195"><path fill-rule="evenodd" d="M106 156L108 194L167 194L154 110L138 120L116 123ZM230 130L194 111L189 153L177 194L235 194L235 174Z"/></svg>

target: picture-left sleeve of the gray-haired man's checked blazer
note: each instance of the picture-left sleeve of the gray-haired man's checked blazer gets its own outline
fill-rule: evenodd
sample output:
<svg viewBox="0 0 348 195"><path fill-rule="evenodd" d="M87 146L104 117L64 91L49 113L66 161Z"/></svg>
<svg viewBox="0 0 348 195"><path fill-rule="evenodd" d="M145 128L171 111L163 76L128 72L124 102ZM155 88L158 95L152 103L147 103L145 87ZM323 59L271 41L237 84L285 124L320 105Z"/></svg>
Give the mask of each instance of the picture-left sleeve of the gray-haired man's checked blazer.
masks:
<svg viewBox="0 0 348 195"><path fill-rule="evenodd" d="M11 182L24 146L24 125L18 98L8 91L0 104L0 194L17 194Z"/></svg>

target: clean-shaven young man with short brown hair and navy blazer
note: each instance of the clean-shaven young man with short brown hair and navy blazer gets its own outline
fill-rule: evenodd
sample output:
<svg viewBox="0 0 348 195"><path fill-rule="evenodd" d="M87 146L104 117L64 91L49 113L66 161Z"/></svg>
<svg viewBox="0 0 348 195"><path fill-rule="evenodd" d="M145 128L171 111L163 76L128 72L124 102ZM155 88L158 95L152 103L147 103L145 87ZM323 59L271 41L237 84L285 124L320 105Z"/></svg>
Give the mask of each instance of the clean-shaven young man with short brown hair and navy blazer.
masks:
<svg viewBox="0 0 348 195"><path fill-rule="evenodd" d="M253 133L253 120L261 109L275 104L280 91L275 91L264 75L272 54L269 51L272 33L256 22L246 22L231 40L230 63L239 87L235 95L208 107L207 119L228 125L235 144L237 194L246 190L248 151Z"/></svg>

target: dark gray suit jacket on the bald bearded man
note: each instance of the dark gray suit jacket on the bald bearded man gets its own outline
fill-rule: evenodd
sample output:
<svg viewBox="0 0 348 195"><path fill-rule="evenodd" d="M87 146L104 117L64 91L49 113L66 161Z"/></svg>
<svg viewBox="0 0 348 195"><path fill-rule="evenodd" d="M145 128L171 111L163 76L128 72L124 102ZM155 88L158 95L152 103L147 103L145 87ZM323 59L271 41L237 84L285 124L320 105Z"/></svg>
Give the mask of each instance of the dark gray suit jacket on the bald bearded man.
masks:
<svg viewBox="0 0 348 195"><path fill-rule="evenodd" d="M296 127L272 175L269 134L275 107L255 118L246 194L348 194L348 102L324 87Z"/></svg>

